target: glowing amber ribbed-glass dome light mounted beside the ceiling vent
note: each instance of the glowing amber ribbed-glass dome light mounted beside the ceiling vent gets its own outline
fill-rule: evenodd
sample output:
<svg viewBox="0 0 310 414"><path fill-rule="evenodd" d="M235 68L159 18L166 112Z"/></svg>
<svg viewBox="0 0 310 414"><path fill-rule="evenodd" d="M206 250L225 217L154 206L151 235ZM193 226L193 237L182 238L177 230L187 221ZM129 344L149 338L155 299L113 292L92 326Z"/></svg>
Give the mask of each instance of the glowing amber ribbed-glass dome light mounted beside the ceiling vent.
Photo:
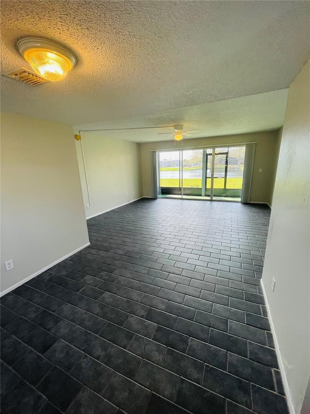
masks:
<svg viewBox="0 0 310 414"><path fill-rule="evenodd" d="M33 70L50 82L62 81L77 62L72 52L41 37L22 39L17 48Z"/></svg>

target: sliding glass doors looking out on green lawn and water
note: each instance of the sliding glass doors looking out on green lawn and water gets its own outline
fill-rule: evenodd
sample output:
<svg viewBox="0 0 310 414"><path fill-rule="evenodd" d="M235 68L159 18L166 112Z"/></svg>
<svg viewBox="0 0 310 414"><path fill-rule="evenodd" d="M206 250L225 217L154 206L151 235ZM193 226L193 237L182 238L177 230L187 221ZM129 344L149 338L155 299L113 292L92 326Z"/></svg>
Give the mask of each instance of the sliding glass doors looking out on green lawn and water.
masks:
<svg viewBox="0 0 310 414"><path fill-rule="evenodd" d="M241 200L245 145L157 152L158 197Z"/></svg>

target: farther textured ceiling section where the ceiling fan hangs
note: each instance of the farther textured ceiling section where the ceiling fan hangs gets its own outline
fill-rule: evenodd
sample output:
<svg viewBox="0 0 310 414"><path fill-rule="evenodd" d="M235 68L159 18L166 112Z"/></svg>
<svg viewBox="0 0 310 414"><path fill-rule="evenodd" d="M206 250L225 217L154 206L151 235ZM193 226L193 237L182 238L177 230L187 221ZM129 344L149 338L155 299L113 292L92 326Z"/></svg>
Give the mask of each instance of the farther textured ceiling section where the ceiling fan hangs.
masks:
<svg viewBox="0 0 310 414"><path fill-rule="evenodd" d="M183 124L184 119L186 119L185 131L199 130L192 132L187 138L276 130L283 125L287 94L288 89L282 89L155 112L151 116L133 116L122 120L76 125L74 130L75 133L97 130L92 133L133 142L173 141L173 137L169 137L169 134L159 133L172 133L173 125Z"/></svg>

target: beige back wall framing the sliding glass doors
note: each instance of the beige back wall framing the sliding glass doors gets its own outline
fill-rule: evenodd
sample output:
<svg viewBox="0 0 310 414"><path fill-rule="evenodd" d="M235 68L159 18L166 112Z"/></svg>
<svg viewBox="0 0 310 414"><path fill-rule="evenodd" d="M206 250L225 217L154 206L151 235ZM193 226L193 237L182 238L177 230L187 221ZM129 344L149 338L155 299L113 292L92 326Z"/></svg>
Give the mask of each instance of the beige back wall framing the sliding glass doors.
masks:
<svg viewBox="0 0 310 414"><path fill-rule="evenodd" d="M204 146L221 147L225 145L256 142L250 201L264 202L271 205L272 188L278 159L278 138L279 134L277 131L270 131L209 138L185 139L182 146L181 144L176 144L174 146L173 139L141 144L143 196L151 197L150 151L152 149L175 150ZM261 173L259 173L260 168L262 168Z"/></svg>

